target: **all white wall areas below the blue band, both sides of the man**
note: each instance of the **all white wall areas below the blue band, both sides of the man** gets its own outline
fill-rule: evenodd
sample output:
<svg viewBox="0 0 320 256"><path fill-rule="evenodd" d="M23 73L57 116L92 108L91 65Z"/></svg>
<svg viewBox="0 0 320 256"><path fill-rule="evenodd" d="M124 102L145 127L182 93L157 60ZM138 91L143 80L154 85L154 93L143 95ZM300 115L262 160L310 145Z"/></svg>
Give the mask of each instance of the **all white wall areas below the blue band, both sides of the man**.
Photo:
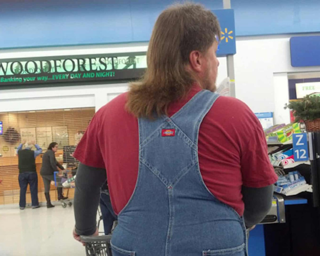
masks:
<svg viewBox="0 0 320 256"><path fill-rule="evenodd" d="M274 112L276 122L288 122L283 112L288 102L287 73L320 71L318 67L296 68L290 64L289 39L293 35L237 38L235 55L236 97L254 112ZM108 46L16 49L0 51L0 59L146 51L147 43ZM219 58L217 79L226 76L226 58ZM279 77L278 73L282 75ZM127 84L101 84L38 89L0 90L0 112L52 108L93 107L99 109Z"/></svg>

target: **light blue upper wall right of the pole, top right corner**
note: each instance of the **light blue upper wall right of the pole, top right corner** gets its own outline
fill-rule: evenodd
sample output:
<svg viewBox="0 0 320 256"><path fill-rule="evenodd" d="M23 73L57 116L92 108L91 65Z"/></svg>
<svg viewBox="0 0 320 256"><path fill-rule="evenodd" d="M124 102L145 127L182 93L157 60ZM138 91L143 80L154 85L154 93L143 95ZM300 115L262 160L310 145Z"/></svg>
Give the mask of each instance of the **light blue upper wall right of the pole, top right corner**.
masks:
<svg viewBox="0 0 320 256"><path fill-rule="evenodd" d="M320 0L231 0L237 36L320 32Z"/></svg>

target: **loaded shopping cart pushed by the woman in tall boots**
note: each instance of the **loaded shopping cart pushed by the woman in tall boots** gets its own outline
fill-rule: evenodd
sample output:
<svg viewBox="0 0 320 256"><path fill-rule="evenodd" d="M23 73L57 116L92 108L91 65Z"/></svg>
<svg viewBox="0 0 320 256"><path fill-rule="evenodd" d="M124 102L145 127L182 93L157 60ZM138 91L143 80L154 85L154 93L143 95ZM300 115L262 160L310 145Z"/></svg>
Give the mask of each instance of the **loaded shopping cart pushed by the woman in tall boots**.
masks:
<svg viewBox="0 0 320 256"><path fill-rule="evenodd" d="M76 177L76 170L65 171L65 172L54 172L54 185L57 188L67 189L66 197L69 195L69 189L75 188L74 179ZM60 200L63 208L66 206L72 206L73 199Z"/></svg>

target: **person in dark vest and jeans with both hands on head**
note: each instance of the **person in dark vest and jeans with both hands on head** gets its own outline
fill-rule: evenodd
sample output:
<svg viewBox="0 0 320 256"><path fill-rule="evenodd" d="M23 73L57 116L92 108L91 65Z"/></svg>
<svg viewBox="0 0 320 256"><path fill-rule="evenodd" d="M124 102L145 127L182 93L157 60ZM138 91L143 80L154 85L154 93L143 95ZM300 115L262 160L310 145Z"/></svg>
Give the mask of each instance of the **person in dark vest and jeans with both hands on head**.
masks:
<svg viewBox="0 0 320 256"><path fill-rule="evenodd" d="M24 145L24 149L22 149ZM32 145L36 150L32 150ZM19 206L23 210L26 208L26 192L28 184L30 185L30 193L32 200L32 208L39 208L38 200L38 175L35 167L35 158L42 153L42 148L32 142L21 143L17 149L18 168L19 168L19 186L20 186L20 200Z"/></svg>

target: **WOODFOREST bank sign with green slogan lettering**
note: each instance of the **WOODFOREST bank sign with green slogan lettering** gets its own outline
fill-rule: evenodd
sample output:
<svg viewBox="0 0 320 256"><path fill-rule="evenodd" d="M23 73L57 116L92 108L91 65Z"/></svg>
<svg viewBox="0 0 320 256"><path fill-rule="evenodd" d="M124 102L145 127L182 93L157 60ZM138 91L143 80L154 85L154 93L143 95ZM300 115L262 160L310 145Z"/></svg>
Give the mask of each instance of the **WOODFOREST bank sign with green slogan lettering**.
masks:
<svg viewBox="0 0 320 256"><path fill-rule="evenodd" d="M141 77L146 53L119 53L0 60L0 88Z"/></svg>

